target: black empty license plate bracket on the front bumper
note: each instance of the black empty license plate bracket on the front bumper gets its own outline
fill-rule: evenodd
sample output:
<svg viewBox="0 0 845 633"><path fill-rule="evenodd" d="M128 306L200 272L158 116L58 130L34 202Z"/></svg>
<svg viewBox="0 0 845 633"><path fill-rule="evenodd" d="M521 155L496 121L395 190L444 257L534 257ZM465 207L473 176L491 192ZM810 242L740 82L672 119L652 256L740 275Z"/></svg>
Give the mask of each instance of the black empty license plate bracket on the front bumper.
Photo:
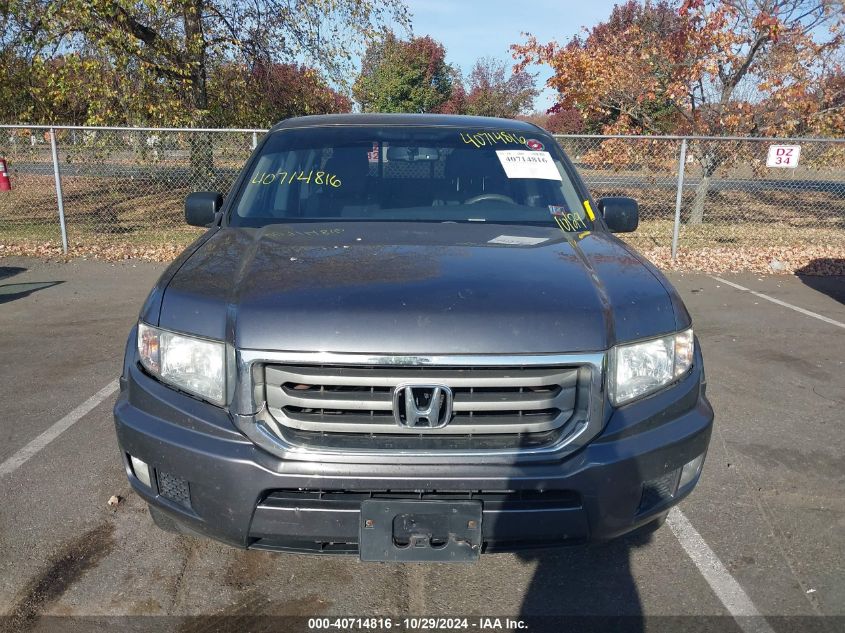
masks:
<svg viewBox="0 0 845 633"><path fill-rule="evenodd" d="M367 499L363 561L471 563L481 553L480 501Z"/></svg>

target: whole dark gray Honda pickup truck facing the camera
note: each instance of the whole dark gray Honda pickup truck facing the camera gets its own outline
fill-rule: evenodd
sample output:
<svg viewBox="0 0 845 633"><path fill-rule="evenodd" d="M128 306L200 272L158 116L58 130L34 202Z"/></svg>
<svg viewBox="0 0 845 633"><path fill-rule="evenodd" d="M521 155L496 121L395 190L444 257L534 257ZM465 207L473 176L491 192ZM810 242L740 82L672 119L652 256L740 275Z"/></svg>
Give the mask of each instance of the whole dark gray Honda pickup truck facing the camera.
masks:
<svg viewBox="0 0 845 633"><path fill-rule="evenodd" d="M126 346L121 454L156 524L242 548L472 561L652 529L713 411L678 294L540 128L275 126Z"/></svg>

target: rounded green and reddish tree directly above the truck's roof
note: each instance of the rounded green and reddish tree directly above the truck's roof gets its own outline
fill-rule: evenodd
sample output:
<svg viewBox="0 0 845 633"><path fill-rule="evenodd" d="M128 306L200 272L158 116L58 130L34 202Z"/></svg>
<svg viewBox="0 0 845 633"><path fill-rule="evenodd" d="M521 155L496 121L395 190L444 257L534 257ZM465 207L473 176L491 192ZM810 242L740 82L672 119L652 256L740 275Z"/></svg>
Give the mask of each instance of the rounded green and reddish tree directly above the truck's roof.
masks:
<svg viewBox="0 0 845 633"><path fill-rule="evenodd" d="M386 32L367 48L352 94L365 112L439 112L452 96L454 69L431 37Z"/></svg>

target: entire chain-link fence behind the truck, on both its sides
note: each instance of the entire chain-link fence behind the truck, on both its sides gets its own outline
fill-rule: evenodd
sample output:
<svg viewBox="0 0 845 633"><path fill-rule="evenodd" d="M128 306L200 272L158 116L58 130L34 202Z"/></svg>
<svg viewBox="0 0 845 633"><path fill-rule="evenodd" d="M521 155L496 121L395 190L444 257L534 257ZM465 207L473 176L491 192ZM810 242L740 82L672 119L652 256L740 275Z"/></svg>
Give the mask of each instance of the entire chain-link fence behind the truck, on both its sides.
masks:
<svg viewBox="0 0 845 633"><path fill-rule="evenodd" d="M200 232L185 196L228 192L264 132L0 126L0 245L181 247ZM557 139L596 199L639 201L638 248L845 247L845 139ZM767 166L774 145L800 146L797 166Z"/></svg>

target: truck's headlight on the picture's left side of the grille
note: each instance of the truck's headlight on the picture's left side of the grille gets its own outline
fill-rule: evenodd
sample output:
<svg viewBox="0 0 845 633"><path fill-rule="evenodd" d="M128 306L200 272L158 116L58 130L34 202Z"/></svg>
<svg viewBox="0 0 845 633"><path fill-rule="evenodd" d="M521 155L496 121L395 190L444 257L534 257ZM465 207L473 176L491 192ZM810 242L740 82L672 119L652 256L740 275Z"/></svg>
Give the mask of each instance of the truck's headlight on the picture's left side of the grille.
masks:
<svg viewBox="0 0 845 633"><path fill-rule="evenodd" d="M225 404L223 343L138 323L138 356L144 368L162 382L215 404Z"/></svg>

